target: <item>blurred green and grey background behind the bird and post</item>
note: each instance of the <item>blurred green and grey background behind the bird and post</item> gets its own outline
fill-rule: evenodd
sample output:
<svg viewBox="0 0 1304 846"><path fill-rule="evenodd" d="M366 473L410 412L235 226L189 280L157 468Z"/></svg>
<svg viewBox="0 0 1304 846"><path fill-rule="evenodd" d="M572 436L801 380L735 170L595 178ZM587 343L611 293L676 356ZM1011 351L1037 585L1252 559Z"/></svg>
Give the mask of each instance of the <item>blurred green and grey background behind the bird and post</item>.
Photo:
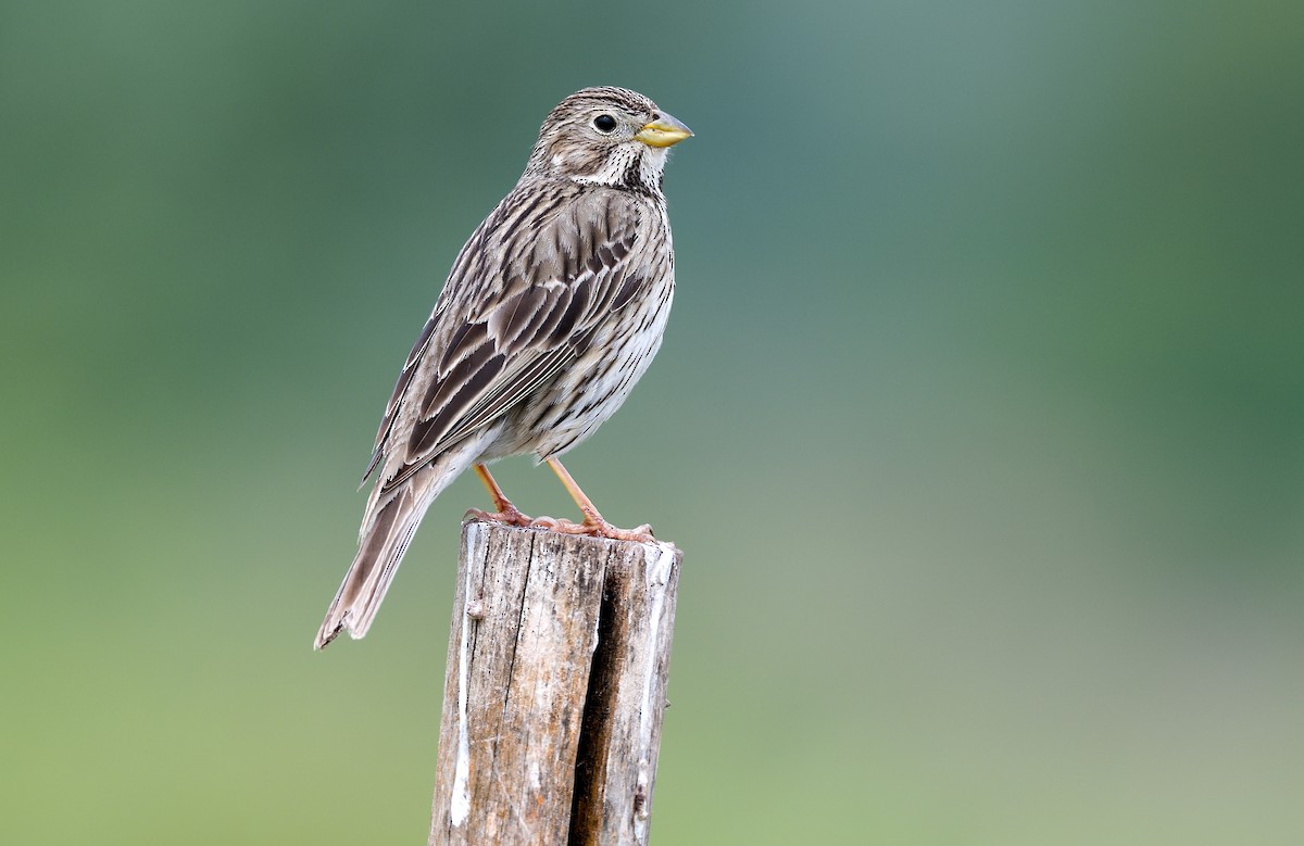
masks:
<svg viewBox="0 0 1304 846"><path fill-rule="evenodd" d="M1301 35L5 4L0 841L424 842L476 481L366 640L312 636L456 249L614 83L698 133L661 356L567 461L686 550L656 842L1300 842Z"/></svg>

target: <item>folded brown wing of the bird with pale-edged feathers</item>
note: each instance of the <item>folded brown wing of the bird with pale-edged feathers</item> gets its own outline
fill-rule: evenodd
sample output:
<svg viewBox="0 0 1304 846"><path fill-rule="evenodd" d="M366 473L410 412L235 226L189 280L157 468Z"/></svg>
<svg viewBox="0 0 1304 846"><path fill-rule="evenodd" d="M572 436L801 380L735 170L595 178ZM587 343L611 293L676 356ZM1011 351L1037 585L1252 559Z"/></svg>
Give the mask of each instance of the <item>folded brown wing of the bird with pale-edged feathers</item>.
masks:
<svg viewBox="0 0 1304 846"><path fill-rule="evenodd" d="M408 355L368 468L403 455L386 489L545 385L647 283L638 199L578 185L531 196L509 194L462 249Z"/></svg>

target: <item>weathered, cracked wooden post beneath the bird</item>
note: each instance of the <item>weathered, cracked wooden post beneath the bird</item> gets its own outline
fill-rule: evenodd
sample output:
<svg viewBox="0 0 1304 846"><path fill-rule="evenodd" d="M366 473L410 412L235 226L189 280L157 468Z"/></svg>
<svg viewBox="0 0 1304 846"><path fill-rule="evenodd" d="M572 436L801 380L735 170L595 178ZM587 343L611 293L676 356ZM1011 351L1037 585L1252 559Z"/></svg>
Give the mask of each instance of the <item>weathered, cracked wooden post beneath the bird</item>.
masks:
<svg viewBox="0 0 1304 846"><path fill-rule="evenodd" d="M647 843L681 559L463 524L430 846Z"/></svg>

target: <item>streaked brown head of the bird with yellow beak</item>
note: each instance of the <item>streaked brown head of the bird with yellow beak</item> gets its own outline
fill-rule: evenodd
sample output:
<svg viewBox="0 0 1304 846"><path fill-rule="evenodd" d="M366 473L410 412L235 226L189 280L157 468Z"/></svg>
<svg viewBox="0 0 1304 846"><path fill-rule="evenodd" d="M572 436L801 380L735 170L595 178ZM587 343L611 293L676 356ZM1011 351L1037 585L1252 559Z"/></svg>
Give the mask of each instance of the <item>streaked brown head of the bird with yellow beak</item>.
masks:
<svg viewBox="0 0 1304 846"><path fill-rule="evenodd" d="M687 126L642 94L584 89L558 103L544 120L526 173L660 189L666 153L690 136Z"/></svg>

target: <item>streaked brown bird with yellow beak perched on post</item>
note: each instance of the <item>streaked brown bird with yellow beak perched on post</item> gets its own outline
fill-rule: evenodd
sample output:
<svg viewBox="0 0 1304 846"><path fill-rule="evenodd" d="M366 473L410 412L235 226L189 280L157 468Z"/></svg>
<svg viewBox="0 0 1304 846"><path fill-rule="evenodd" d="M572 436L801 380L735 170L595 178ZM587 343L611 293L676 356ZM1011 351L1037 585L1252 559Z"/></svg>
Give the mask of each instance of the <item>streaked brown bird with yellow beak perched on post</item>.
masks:
<svg viewBox="0 0 1304 846"><path fill-rule="evenodd" d="M516 185L458 253L385 408L357 555L314 640L366 635L430 503L473 468L509 525L649 541L608 523L558 460L621 407L665 332L674 248L662 193L692 136L647 96L589 87L549 112ZM532 520L489 473L535 454L583 521Z"/></svg>

